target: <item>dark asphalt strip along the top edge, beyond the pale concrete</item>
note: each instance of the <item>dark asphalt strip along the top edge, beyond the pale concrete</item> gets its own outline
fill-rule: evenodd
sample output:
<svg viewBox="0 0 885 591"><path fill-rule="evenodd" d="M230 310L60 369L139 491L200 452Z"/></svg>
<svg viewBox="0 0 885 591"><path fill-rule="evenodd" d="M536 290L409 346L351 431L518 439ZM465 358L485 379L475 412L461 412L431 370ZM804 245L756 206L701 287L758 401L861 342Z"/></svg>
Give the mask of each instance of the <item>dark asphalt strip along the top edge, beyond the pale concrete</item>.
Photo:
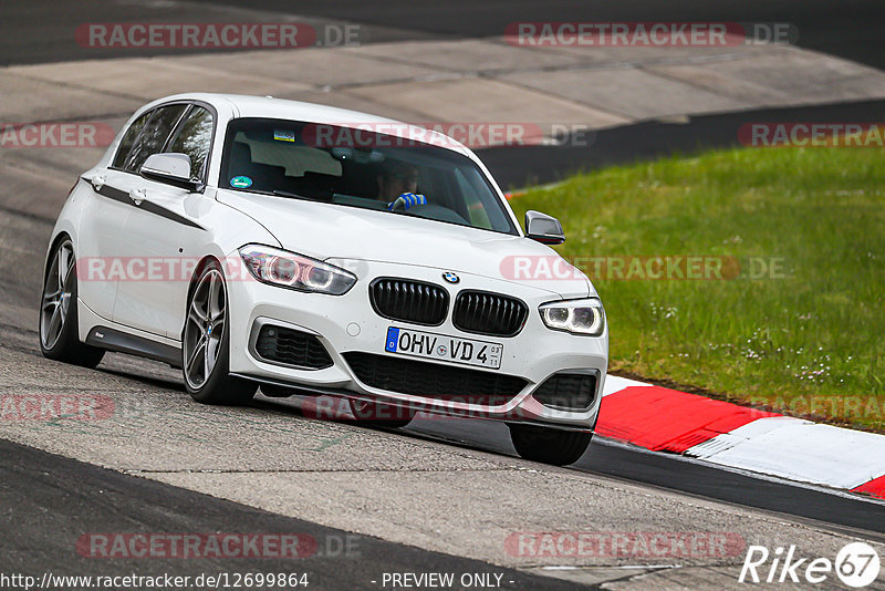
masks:
<svg viewBox="0 0 885 591"><path fill-rule="evenodd" d="M366 23L372 25L369 42L500 35L508 23L519 21L789 22L799 31L800 46L885 66L885 9L876 0L808 0L801 4L791 0L688 0L677 4L650 0L394 0L381 7L360 0L11 0L0 7L0 64L117 58L125 51L96 55L87 48L67 46L71 29L86 22L211 22L237 15L229 7L249 9L250 13L239 14L243 22L252 22L254 11L261 10L268 20L274 13L294 13L321 21ZM169 51L175 50L162 53Z"/></svg>

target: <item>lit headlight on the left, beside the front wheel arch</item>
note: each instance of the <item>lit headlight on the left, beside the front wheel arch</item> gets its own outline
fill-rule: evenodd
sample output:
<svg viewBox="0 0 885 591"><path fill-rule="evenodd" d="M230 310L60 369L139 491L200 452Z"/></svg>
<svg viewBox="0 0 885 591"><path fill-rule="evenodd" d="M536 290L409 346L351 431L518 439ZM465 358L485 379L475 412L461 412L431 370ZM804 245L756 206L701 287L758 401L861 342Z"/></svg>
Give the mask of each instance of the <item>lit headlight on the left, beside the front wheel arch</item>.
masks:
<svg viewBox="0 0 885 591"><path fill-rule="evenodd" d="M356 283L356 276L344 269L272 247L246 245L240 257L252 277L281 288L342 296Z"/></svg>

